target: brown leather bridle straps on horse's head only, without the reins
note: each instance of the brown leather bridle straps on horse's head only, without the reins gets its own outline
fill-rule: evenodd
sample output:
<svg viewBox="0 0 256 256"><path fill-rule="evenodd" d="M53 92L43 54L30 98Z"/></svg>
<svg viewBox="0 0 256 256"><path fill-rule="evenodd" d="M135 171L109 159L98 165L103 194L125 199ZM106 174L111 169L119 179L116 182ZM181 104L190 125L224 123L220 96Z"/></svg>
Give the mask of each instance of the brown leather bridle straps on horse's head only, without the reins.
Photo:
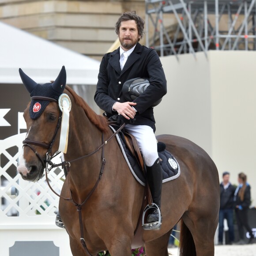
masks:
<svg viewBox="0 0 256 256"><path fill-rule="evenodd" d="M43 97L43 96L33 96L31 97L31 100L44 100L44 101L49 101L49 102L56 102L58 103L58 101L54 98L49 98L49 97ZM23 140L23 147L24 146L27 146L29 147L32 151L34 151L34 153L36 154L36 156L39 158L39 160L41 161L42 165L43 165L43 168L45 168L46 166L46 158L43 159L40 154L38 154L38 152L34 149L34 147L32 147L31 145L36 145L36 146L39 146L39 147L44 147L46 148L48 151L46 153L46 156L51 156L52 155L52 147L53 147L53 143L56 139L56 135L57 135L57 132L60 128L60 124L61 124L61 111L60 111L60 114L59 114L59 118L58 118L58 123L56 125L56 128L55 128L55 131L53 133L53 138L51 139L50 143L49 144L46 144L46 143L43 143L43 142L38 142L38 141L35 141L35 140L31 140L29 138L26 138Z"/></svg>

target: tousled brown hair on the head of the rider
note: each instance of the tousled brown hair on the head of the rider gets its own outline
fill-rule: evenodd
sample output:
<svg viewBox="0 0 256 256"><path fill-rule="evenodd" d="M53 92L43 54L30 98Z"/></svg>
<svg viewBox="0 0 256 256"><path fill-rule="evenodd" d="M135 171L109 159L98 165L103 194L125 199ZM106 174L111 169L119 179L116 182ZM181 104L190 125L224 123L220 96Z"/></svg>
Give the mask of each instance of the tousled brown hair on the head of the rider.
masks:
<svg viewBox="0 0 256 256"><path fill-rule="evenodd" d="M140 38L143 37L144 35L144 20L142 18L140 18L137 14L136 11L127 11L124 12L120 18L117 20L117 23L115 25L115 30L117 35L119 35L119 28L121 26L121 22L122 21L127 21L127 20L134 20L137 24L137 29L138 29L138 34L140 36Z"/></svg>

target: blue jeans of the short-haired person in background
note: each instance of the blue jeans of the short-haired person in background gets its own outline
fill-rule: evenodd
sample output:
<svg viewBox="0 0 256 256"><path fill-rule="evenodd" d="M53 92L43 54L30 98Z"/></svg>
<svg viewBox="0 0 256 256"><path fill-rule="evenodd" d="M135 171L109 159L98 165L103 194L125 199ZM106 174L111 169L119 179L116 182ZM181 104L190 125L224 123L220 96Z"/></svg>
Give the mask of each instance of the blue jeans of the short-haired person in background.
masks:
<svg viewBox="0 0 256 256"><path fill-rule="evenodd" d="M224 229L224 218L226 218L229 227L229 242L234 241L234 226L233 226L233 209L219 210L218 215L218 241L223 242L223 229Z"/></svg>

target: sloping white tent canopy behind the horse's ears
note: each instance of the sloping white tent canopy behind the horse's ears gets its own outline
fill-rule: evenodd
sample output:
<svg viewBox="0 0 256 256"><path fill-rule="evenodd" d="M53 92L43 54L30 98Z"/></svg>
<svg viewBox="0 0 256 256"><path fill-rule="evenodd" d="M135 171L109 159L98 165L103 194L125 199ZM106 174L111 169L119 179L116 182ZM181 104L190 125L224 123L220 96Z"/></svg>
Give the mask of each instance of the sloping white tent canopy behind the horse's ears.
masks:
<svg viewBox="0 0 256 256"><path fill-rule="evenodd" d="M0 22L0 83L21 83L19 68L37 83L56 79L61 67L67 84L95 85L100 62Z"/></svg>

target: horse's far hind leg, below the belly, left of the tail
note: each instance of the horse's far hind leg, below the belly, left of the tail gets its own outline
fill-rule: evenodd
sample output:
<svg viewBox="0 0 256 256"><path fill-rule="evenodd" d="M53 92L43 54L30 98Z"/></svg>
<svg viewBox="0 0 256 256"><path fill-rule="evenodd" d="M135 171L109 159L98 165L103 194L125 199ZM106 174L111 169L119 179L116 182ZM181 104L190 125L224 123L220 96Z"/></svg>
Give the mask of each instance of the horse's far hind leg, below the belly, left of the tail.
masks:
<svg viewBox="0 0 256 256"><path fill-rule="evenodd" d="M155 231L149 231L155 232ZM168 242L172 229L165 233L162 237L158 237L152 241L145 243L147 256L168 256Z"/></svg>

